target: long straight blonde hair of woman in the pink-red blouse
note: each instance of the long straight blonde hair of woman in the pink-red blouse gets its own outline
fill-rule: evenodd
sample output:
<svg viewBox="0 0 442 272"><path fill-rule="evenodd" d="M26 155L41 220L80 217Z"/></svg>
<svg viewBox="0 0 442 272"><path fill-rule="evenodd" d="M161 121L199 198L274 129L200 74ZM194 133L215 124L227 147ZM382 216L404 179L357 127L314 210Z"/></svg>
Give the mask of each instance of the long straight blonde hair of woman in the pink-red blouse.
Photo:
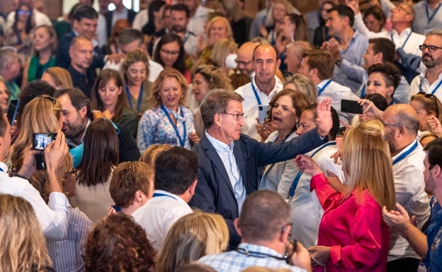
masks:
<svg viewBox="0 0 442 272"><path fill-rule="evenodd" d="M346 175L346 197L356 191L356 198L367 189L379 206L395 208L390 148L385 128L379 120L363 122L344 137L342 170Z"/></svg>

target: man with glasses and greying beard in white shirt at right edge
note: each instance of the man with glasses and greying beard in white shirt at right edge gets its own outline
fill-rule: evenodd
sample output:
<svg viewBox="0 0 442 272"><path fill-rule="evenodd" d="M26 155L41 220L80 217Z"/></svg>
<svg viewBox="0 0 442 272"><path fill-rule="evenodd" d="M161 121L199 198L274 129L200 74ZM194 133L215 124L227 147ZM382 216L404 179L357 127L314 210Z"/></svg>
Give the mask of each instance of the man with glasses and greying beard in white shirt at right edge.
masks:
<svg viewBox="0 0 442 272"><path fill-rule="evenodd" d="M424 92L442 99L442 30L429 32L419 49L426 69L413 79L409 95Z"/></svg>

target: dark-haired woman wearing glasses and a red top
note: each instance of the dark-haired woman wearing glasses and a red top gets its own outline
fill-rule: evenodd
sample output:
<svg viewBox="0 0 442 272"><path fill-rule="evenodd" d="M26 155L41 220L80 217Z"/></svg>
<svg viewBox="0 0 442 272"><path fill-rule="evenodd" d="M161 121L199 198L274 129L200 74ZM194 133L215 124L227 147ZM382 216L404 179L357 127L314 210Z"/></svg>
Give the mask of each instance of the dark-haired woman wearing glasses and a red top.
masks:
<svg viewBox="0 0 442 272"><path fill-rule="evenodd" d="M187 83L191 83L191 73L186 69L185 54L181 37L174 33L167 33L158 42L154 52L154 61L161 64L164 69L178 70L186 78Z"/></svg>

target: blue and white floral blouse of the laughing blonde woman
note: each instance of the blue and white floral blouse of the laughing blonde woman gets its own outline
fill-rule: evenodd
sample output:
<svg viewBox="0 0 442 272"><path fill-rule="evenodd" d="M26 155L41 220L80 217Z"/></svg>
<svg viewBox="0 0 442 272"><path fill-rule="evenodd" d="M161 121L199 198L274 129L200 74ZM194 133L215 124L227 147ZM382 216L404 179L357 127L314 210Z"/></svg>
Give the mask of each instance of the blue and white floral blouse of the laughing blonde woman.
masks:
<svg viewBox="0 0 442 272"><path fill-rule="evenodd" d="M168 143L171 146L182 146L183 148L191 148L188 134L195 131L193 126L193 114L186 107L179 107L178 112L173 112L168 108L164 108L176 119L176 130L171 124L169 117L164 113L162 107L156 107L145 111L138 124L137 144L140 152L145 150L154 143ZM176 135L178 131L179 136Z"/></svg>

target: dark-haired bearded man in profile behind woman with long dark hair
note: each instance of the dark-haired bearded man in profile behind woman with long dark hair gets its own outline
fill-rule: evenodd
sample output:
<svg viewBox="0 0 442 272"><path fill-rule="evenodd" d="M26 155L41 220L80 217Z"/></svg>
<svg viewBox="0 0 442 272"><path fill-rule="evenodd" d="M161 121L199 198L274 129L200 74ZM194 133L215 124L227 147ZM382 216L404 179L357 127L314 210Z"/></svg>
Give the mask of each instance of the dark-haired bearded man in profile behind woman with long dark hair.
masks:
<svg viewBox="0 0 442 272"><path fill-rule="evenodd" d="M94 116L89 99L78 88L62 89L55 92L54 97L62 104L62 131L66 135L69 153L74 159L74 167L79 165L83 156L83 136L86 127L91 124ZM99 117L98 117L99 118ZM130 136L129 129L113 123L118 134L119 162L135 161L140 158L137 142Z"/></svg>

